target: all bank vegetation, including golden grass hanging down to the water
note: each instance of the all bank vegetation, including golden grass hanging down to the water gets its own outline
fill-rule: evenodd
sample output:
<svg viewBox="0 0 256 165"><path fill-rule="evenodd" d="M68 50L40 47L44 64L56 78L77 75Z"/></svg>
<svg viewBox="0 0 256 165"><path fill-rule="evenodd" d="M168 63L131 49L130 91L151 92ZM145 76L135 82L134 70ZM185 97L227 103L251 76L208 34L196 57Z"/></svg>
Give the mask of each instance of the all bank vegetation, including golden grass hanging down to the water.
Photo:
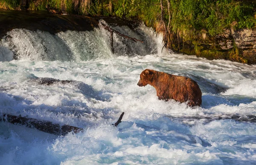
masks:
<svg viewBox="0 0 256 165"><path fill-rule="evenodd" d="M166 47L182 51L184 43L192 43L195 48L186 50L199 55L206 51L198 46L225 29L256 27L256 0L0 0L0 8L141 20L164 34ZM230 59L243 61L234 49ZM223 54L214 47L208 55L214 52Z"/></svg>

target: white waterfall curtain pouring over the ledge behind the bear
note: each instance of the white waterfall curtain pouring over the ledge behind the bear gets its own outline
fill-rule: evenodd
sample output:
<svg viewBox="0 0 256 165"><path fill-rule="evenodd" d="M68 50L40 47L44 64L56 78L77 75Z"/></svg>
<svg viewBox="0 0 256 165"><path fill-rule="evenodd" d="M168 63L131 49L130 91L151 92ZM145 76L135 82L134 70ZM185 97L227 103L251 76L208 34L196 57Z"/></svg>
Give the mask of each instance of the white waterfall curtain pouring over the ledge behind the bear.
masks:
<svg viewBox="0 0 256 165"><path fill-rule="evenodd" d="M17 59L44 61L87 61L107 59L116 56L145 56L156 54L162 43L155 40L152 30L144 25L135 29L128 26L113 26L113 29L143 40L135 43L132 40L113 35L115 54L111 53L110 33L104 28L94 28L93 31L61 31L50 34L47 31L31 31L13 29L7 32L0 42L0 60Z"/></svg>

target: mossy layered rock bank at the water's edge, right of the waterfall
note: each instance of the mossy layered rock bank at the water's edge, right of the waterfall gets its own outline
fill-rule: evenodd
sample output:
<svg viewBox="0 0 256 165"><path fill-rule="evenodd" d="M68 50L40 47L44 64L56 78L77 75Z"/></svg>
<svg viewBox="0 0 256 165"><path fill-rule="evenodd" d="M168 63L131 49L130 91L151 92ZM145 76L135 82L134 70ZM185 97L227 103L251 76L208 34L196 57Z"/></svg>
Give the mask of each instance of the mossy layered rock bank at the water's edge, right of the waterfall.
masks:
<svg viewBox="0 0 256 165"><path fill-rule="evenodd" d="M204 36L204 37L202 37ZM227 29L215 37L201 34L197 40L189 40L176 51L195 54L209 60L224 59L250 65L256 64L256 29Z"/></svg>

